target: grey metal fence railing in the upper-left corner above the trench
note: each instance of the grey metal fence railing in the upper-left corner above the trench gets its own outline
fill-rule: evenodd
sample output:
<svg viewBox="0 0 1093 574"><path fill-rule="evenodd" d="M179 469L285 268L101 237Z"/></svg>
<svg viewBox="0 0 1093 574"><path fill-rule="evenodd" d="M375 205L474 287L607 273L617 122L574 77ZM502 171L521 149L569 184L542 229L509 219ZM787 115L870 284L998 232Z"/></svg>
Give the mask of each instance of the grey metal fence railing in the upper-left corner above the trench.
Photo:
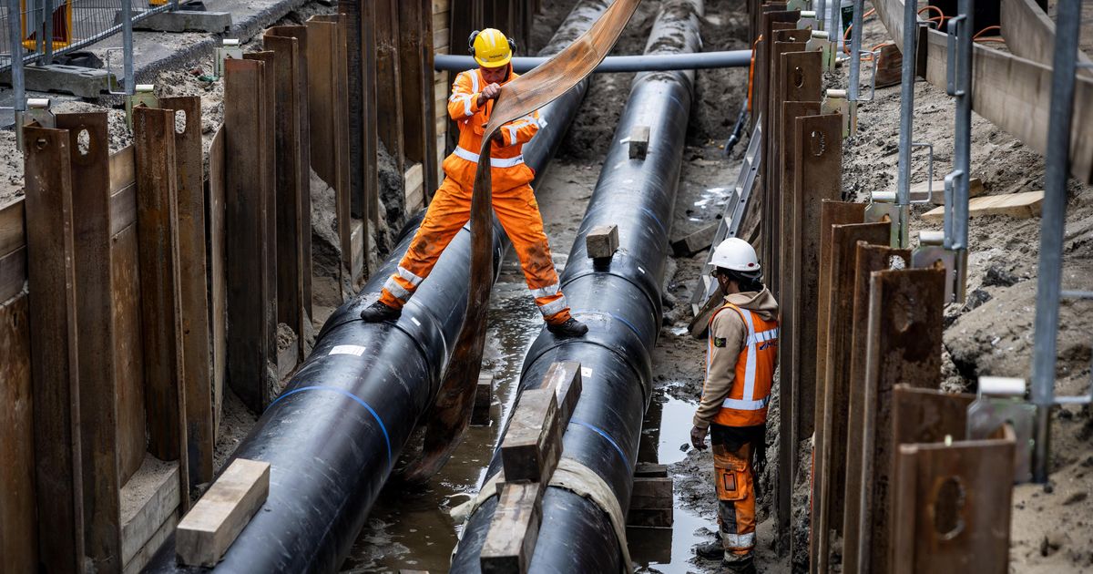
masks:
<svg viewBox="0 0 1093 574"><path fill-rule="evenodd" d="M7 0L0 19L4 30L12 30L12 14L17 14L19 40L11 35L0 38L0 71L11 67L13 54L22 54L23 63L51 63L56 56L121 32L127 3L132 22L178 7L178 0Z"/></svg>

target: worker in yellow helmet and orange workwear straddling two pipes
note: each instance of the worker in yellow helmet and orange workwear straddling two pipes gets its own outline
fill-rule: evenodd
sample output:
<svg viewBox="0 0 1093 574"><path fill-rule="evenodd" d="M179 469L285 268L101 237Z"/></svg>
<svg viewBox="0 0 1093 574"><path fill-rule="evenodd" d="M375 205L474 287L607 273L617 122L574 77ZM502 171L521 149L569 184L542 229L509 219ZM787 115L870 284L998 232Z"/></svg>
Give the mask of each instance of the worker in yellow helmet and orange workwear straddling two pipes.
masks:
<svg viewBox="0 0 1093 574"><path fill-rule="evenodd" d="M410 243L398 271L384 284L379 300L361 312L367 321L396 319L428 277L436 260L470 219L474 175L485 125L505 84L517 78L510 60L515 43L494 28L471 34L470 51L480 68L460 72L451 85L448 115L459 125L459 147L444 160L444 183ZM551 332L579 337L588 327L569 315L559 284L542 215L529 185L534 172L525 165L524 144L539 131L539 113L505 124L493 139L493 208L516 248L528 288Z"/></svg>

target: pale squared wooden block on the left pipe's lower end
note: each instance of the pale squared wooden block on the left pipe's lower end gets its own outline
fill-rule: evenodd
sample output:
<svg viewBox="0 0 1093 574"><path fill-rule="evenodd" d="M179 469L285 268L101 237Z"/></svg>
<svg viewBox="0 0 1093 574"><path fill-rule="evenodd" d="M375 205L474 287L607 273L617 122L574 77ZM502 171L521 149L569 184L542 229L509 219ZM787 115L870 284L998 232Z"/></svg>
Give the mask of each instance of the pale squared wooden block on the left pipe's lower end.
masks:
<svg viewBox="0 0 1093 574"><path fill-rule="evenodd" d="M266 502L270 465L236 458L178 523L175 552L190 566L213 567Z"/></svg>

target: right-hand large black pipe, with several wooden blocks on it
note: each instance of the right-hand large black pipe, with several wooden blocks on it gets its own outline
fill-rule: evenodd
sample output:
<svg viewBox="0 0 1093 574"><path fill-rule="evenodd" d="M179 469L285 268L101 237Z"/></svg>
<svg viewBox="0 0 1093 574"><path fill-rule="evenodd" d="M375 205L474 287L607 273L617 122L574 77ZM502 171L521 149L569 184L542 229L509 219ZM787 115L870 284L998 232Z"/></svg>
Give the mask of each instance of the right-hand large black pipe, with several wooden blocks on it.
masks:
<svg viewBox="0 0 1093 574"><path fill-rule="evenodd" d="M702 0L666 2L646 52L698 50L701 15ZM581 364L584 389L562 456L597 472L623 509L630 502L649 402L650 353L660 332L661 280L693 82L693 72L651 72L634 79L615 143L562 274L566 298L589 332L580 339L557 339L544 329L528 351L518 390L539 387L553 362ZM648 153L644 160L631 160L620 140L639 125L649 127ZM619 226L620 247L610 265L600 266L588 258L585 235L609 224ZM500 470L495 452L486 480ZM453 572L480 572L479 555L496 504L494 496L469 518ZM529 571L611 573L620 571L621 561L618 537L596 503L561 488L546 489Z"/></svg>

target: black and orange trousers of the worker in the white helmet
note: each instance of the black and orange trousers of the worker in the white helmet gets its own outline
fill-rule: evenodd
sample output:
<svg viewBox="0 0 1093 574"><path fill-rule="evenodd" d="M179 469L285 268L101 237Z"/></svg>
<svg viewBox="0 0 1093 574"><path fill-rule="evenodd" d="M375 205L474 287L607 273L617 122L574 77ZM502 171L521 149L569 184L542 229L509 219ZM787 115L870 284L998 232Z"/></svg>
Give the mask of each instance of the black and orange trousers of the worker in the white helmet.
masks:
<svg viewBox="0 0 1093 574"><path fill-rule="evenodd" d="M721 544L726 552L741 558L755 548L755 484L751 459L756 429L760 427L709 426ZM763 440L762 434L757 440Z"/></svg>

